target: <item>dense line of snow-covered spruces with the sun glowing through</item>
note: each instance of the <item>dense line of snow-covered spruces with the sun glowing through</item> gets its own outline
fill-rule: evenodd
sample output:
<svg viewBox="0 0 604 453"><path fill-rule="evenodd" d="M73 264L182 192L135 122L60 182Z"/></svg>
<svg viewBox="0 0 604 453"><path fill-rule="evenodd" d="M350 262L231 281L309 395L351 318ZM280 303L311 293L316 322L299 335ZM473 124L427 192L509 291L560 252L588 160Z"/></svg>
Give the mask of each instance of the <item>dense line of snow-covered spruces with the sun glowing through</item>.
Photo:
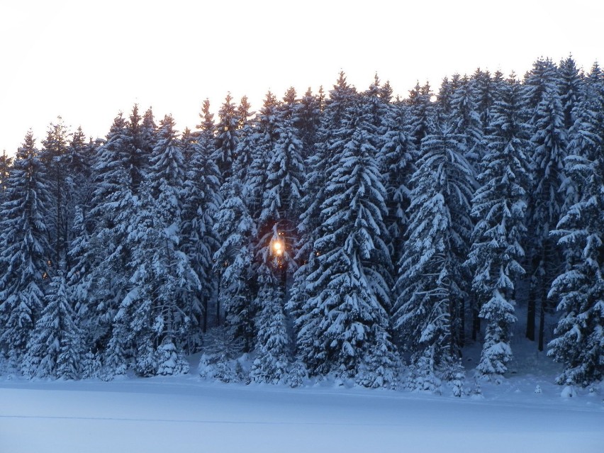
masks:
<svg viewBox="0 0 604 453"><path fill-rule="evenodd" d="M250 108L205 101L178 133L134 106L104 140L58 121L1 157L4 372L171 375L203 352L223 381L437 390L469 342L479 376L506 373L519 303L559 384L602 379L598 65L477 69L406 99L342 73Z"/></svg>

